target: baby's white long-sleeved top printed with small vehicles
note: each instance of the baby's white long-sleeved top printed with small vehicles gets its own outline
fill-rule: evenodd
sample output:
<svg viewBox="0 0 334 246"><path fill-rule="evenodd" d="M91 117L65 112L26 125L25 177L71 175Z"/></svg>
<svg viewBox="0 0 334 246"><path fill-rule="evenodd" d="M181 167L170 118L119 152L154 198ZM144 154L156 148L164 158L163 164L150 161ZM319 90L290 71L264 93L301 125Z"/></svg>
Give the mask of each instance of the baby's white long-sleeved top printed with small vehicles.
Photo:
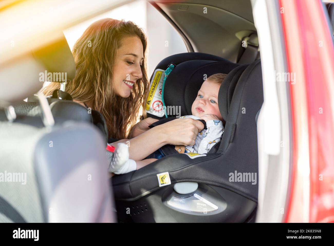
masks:
<svg viewBox="0 0 334 246"><path fill-rule="evenodd" d="M180 118L192 118L199 120L200 118L194 115L181 116ZM185 147L185 153L206 154L217 142L221 140L224 132L223 123L220 120L208 120L206 122L206 130L201 130L195 140L195 144Z"/></svg>

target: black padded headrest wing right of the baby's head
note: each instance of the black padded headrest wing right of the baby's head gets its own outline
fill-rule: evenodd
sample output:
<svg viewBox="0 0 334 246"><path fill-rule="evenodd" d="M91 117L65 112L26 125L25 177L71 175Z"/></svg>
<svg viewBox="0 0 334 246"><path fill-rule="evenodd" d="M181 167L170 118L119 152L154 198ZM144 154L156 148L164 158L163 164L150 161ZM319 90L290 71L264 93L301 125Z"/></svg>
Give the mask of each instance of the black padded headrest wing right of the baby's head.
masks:
<svg viewBox="0 0 334 246"><path fill-rule="evenodd" d="M248 64L236 67L227 74L221 83L218 93L218 107L224 120L227 119L228 109L231 104L233 92L242 72L248 67Z"/></svg>

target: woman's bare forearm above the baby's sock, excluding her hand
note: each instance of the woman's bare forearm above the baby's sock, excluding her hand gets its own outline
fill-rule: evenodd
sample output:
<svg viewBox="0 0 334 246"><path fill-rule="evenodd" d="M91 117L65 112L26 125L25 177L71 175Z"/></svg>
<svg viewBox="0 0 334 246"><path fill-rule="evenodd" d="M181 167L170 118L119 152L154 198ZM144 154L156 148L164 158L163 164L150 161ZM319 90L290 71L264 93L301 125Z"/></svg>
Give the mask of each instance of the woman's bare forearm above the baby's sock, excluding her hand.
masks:
<svg viewBox="0 0 334 246"><path fill-rule="evenodd" d="M132 139L121 139L112 143L125 143L129 146L129 158L142 160L160 147L167 144L167 134L159 126L153 127Z"/></svg>

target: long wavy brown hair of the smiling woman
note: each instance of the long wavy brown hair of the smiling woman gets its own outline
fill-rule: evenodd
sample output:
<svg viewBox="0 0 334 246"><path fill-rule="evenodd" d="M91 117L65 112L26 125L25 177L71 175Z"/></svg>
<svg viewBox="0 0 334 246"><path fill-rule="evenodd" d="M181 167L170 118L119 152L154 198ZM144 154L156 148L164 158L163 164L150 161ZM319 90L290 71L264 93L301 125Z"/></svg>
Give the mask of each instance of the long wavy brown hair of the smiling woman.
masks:
<svg viewBox="0 0 334 246"><path fill-rule="evenodd" d="M113 67L117 50L125 37L138 36L143 44L143 77L134 84L128 98L116 95L113 87ZM88 45L91 42L91 46ZM73 100L93 102L94 110L101 112L107 122L109 137L129 138L137 120L146 118L145 99L149 91L146 73L146 36L131 21L101 19L91 24L74 44L72 54L76 65L75 78L66 84L66 92ZM50 83L43 89L51 95L59 83Z"/></svg>

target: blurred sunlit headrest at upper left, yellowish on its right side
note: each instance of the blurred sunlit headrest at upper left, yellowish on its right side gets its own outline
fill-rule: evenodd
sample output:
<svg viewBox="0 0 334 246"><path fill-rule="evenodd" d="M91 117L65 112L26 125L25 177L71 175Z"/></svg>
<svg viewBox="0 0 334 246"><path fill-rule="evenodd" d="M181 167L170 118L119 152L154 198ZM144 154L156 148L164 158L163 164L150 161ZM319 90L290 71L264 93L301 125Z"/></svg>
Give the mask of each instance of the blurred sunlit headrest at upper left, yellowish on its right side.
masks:
<svg viewBox="0 0 334 246"><path fill-rule="evenodd" d="M2 106L15 104L38 92L43 82L47 81L44 76L45 71L56 75L52 77L58 79L58 73L66 73L63 74L66 75L63 78L67 77L67 81L74 78L74 58L63 35L57 41L1 66L0 102ZM59 82L62 81L59 80Z"/></svg>

